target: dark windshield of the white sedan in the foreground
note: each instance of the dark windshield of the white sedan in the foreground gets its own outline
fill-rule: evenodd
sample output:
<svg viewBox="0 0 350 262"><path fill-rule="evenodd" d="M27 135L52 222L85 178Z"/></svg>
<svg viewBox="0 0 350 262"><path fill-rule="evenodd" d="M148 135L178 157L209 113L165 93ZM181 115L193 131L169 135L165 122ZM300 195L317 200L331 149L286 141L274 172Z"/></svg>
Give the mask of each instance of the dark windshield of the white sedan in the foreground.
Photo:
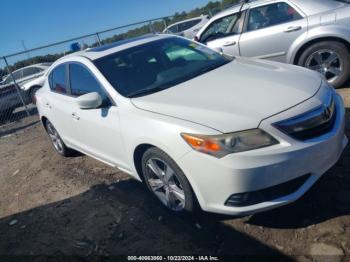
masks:
<svg viewBox="0 0 350 262"><path fill-rule="evenodd" d="M171 37L100 58L95 65L123 96L143 96L204 74L230 60L195 42Z"/></svg>

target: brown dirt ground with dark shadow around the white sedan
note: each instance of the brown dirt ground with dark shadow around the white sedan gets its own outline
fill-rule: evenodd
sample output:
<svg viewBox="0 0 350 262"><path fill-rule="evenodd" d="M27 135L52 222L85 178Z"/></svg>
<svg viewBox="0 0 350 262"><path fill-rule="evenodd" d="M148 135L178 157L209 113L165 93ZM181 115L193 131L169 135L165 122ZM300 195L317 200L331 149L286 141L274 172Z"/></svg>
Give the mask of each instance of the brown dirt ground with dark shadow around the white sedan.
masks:
<svg viewBox="0 0 350 262"><path fill-rule="evenodd" d="M350 89L339 92L350 137ZM349 146L292 205L243 218L177 217L123 172L60 157L37 116L16 114L0 126L0 255L350 255Z"/></svg>

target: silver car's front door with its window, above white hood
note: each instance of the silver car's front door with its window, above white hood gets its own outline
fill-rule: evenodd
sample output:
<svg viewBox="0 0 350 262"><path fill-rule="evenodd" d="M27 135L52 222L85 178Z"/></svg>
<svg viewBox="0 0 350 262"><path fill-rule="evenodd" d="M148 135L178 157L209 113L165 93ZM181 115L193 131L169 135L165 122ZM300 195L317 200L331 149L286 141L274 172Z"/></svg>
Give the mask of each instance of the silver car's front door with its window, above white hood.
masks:
<svg viewBox="0 0 350 262"><path fill-rule="evenodd" d="M213 49L222 48L228 55L239 55L238 41L243 26L243 13L234 13L213 21L199 41Z"/></svg>

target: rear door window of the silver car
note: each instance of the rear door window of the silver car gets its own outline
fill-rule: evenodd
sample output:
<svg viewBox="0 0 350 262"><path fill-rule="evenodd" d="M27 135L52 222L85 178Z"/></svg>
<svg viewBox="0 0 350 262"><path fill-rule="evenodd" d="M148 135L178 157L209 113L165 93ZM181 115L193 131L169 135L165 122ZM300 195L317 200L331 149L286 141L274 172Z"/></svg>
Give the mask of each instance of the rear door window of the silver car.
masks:
<svg viewBox="0 0 350 262"><path fill-rule="evenodd" d="M287 3L275 3L250 10L248 31L301 19L302 16Z"/></svg>

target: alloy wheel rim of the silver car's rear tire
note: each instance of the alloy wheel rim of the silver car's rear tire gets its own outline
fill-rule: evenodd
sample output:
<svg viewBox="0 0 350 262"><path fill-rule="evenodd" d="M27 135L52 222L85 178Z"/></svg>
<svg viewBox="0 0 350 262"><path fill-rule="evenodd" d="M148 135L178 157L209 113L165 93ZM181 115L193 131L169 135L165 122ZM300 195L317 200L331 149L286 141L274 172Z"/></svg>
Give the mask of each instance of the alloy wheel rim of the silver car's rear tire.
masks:
<svg viewBox="0 0 350 262"><path fill-rule="evenodd" d="M343 61L333 50L323 49L311 54L306 60L305 67L323 74L329 82L332 82L341 75Z"/></svg>

